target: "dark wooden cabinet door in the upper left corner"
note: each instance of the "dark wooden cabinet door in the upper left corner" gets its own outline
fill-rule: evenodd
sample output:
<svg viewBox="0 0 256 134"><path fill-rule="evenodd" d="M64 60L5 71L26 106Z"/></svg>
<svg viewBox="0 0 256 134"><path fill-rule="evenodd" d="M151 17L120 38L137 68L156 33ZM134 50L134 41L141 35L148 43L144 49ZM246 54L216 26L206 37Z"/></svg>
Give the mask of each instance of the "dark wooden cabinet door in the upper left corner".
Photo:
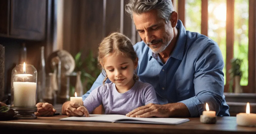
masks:
<svg viewBox="0 0 256 134"><path fill-rule="evenodd" d="M44 40L46 4L46 0L12 0L10 36L20 39Z"/></svg>

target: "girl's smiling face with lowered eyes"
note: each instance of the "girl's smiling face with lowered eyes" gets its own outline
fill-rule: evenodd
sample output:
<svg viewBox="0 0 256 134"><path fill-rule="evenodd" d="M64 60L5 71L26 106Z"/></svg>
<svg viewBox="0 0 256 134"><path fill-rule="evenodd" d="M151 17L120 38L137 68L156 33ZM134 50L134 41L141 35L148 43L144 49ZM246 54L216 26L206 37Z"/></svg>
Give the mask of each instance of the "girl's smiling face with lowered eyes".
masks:
<svg viewBox="0 0 256 134"><path fill-rule="evenodd" d="M132 59L122 54L112 54L104 58L104 69L111 82L115 83L117 89L129 90L133 87L134 70L137 68L138 59Z"/></svg>

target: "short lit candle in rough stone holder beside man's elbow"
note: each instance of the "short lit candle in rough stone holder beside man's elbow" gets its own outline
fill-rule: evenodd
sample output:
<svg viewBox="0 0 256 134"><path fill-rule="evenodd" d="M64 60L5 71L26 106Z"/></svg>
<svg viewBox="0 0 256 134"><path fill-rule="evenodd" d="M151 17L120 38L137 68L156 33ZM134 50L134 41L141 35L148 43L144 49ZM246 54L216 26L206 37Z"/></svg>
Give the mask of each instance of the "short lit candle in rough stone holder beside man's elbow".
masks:
<svg viewBox="0 0 256 134"><path fill-rule="evenodd" d="M210 111L208 104L206 103L206 111L203 111L202 115L200 115L200 122L207 124L216 123L216 111Z"/></svg>

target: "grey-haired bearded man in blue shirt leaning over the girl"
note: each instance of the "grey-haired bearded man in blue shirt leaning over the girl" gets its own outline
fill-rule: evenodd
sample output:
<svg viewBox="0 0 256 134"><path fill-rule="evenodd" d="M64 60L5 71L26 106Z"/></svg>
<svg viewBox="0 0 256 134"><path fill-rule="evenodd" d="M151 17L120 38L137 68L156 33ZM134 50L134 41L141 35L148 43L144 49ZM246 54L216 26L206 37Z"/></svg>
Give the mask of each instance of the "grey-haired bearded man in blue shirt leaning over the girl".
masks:
<svg viewBox="0 0 256 134"><path fill-rule="evenodd" d="M229 116L223 95L224 62L218 44L186 31L170 0L131 0L125 10L143 40L134 45L139 58L137 74L141 81L153 85L161 104L136 108L126 116L199 117L206 102L217 116ZM83 100L104 78L99 75ZM72 110L82 115L78 107L65 102L62 113Z"/></svg>

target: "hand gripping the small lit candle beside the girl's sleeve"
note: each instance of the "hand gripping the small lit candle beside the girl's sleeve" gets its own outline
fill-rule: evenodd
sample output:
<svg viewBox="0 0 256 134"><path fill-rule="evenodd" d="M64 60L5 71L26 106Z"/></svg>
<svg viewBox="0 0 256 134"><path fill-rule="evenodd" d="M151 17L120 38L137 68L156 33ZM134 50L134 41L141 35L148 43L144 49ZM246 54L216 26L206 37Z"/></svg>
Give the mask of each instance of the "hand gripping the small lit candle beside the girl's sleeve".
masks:
<svg viewBox="0 0 256 134"><path fill-rule="evenodd" d="M66 109L65 109L66 107ZM63 111L64 110L64 111ZM89 117L88 110L77 102L68 101L62 105L62 114L70 116L83 116Z"/></svg>

